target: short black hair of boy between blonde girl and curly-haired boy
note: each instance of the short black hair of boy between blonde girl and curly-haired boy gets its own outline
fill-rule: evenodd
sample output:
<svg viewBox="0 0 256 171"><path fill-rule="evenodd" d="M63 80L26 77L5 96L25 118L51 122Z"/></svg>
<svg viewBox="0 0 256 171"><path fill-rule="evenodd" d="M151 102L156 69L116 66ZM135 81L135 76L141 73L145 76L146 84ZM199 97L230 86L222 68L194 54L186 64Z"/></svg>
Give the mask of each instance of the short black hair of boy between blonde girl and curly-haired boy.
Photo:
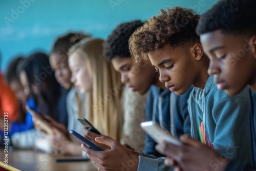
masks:
<svg viewBox="0 0 256 171"><path fill-rule="evenodd" d="M134 20L118 25L104 43L104 57L111 61L116 56L131 57L129 52L129 38L133 32L141 27L141 20Z"/></svg>

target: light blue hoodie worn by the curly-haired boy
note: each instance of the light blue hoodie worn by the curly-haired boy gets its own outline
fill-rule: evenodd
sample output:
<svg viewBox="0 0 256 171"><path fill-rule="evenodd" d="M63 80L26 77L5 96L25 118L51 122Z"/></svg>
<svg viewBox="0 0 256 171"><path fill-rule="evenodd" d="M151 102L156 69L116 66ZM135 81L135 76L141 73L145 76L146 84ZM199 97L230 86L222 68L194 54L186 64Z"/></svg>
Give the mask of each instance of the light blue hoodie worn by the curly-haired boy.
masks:
<svg viewBox="0 0 256 171"><path fill-rule="evenodd" d="M204 90L194 88L188 99L191 136L228 159L252 164L248 87L228 96L217 89L213 78L209 76Z"/></svg>

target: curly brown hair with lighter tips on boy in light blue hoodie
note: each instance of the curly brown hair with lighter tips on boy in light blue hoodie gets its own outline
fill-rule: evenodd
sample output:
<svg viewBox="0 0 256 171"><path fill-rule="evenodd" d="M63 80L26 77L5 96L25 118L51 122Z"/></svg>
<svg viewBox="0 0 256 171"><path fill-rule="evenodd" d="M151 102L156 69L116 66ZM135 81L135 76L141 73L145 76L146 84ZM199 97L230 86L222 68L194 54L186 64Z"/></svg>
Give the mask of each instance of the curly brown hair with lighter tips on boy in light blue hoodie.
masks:
<svg viewBox="0 0 256 171"><path fill-rule="evenodd" d="M186 47L200 42L196 26L200 15L183 7L161 9L160 13L148 19L129 39L129 48L136 65L147 54L168 44L172 48Z"/></svg>

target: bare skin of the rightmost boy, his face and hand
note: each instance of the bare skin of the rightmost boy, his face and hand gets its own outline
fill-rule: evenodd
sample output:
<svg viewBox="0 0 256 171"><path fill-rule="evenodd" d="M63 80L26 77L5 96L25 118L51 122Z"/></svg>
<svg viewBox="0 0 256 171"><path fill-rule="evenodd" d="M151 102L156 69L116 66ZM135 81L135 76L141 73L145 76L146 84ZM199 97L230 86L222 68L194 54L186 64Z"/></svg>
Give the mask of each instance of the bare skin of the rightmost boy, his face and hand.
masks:
<svg viewBox="0 0 256 171"><path fill-rule="evenodd" d="M223 34L221 30L216 30L201 35L200 39L210 59L208 73L215 76L219 89L236 95L249 84L256 91L256 35ZM244 56L238 58L241 50L245 50ZM167 166L176 165L174 161L183 170L222 171L227 166L227 159L201 142L186 135L180 139L184 144L182 146L164 141L156 146L157 151L168 156L165 159ZM195 155L197 157L191 158Z"/></svg>

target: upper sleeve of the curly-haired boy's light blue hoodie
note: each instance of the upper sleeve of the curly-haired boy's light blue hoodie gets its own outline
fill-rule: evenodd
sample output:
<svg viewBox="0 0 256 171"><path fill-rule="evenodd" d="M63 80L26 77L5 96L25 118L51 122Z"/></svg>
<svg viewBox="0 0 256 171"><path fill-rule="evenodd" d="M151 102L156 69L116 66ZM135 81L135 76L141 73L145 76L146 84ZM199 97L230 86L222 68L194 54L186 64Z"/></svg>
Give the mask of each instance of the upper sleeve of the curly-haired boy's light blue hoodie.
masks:
<svg viewBox="0 0 256 171"><path fill-rule="evenodd" d="M246 92L248 92L247 89ZM219 154L228 159L247 160L252 164L250 107L247 97L246 94L240 94L216 101L212 116L207 116L213 117L215 122L205 124L209 126L216 124L214 141L211 140L211 143ZM211 109L208 108L208 110Z"/></svg>

